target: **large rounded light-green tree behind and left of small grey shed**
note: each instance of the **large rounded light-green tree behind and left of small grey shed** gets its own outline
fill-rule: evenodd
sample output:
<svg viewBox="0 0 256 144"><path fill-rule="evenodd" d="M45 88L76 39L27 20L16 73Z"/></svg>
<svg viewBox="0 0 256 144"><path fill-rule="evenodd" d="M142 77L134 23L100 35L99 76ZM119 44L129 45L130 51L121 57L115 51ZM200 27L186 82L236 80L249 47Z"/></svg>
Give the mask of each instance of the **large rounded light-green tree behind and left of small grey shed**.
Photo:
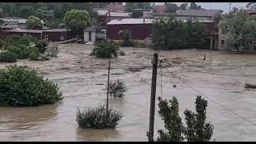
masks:
<svg viewBox="0 0 256 144"><path fill-rule="evenodd" d="M83 35L86 26L90 26L90 14L86 10L70 10L66 12L64 23L73 34Z"/></svg>

